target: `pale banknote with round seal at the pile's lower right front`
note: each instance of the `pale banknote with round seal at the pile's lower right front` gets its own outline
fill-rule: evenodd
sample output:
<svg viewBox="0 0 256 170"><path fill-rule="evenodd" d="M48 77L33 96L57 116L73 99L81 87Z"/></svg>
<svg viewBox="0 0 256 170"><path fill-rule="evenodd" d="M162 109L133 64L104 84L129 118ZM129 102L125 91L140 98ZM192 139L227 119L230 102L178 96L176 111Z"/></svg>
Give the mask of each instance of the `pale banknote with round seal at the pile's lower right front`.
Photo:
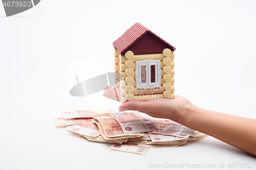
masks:
<svg viewBox="0 0 256 170"><path fill-rule="evenodd" d="M161 135L155 133L148 133L152 142L159 142L159 141L180 141L180 140L196 140L196 137L188 136L187 138L178 137L178 136L171 136L171 135Z"/></svg>

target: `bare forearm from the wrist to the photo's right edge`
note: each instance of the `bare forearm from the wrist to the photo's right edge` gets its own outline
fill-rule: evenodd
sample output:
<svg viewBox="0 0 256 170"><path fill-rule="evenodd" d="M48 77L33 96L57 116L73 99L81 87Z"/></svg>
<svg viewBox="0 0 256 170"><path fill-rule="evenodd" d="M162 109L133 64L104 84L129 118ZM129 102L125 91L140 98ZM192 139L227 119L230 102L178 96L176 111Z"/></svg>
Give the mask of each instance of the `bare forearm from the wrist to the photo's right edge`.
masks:
<svg viewBox="0 0 256 170"><path fill-rule="evenodd" d="M189 105L177 122L256 156L256 120Z"/></svg>

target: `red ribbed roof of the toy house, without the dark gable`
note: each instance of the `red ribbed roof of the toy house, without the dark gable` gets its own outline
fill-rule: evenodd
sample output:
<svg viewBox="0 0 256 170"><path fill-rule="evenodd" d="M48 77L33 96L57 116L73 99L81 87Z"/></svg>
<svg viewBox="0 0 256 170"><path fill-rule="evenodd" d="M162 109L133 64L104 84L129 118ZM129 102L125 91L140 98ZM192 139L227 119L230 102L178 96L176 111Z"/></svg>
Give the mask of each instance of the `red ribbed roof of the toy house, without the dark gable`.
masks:
<svg viewBox="0 0 256 170"><path fill-rule="evenodd" d="M141 25L141 23L135 23L130 29L125 31L121 37L113 42L114 47L119 51L120 54L124 53L127 48L133 45L139 38L141 38L147 32L152 33L154 36L159 38L162 42L164 42L167 46L170 47L170 50L174 51L176 48L164 41L158 35Z"/></svg>

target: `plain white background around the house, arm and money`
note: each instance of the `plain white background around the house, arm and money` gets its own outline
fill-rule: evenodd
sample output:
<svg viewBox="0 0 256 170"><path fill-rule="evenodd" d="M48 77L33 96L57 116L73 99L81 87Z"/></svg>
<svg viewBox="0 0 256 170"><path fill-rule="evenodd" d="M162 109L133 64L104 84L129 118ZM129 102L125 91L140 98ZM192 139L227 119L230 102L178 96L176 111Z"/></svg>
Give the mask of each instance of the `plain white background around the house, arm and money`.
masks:
<svg viewBox="0 0 256 170"><path fill-rule="evenodd" d="M209 136L142 156L111 151L111 144L89 142L53 122L60 111L120 106L102 92L88 99L71 96L66 69L100 54L104 70L113 71L112 43L135 22L177 48L177 94L205 109L255 119L255 9L255 1L44 0L6 17L0 5L0 169L153 169L149 163L218 169L220 163L256 163L254 156ZM92 71L98 60L90 64Z"/></svg>

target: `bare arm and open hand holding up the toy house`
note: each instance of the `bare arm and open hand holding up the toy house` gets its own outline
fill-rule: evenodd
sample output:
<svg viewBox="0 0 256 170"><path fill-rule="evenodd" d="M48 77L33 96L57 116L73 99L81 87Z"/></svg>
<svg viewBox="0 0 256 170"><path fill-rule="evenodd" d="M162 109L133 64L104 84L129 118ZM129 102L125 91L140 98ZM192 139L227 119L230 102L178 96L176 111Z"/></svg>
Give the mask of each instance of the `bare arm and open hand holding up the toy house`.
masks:
<svg viewBox="0 0 256 170"><path fill-rule="evenodd" d="M110 91L104 93L104 96L110 97ZM175 98L125 102L119 110L137 110L153 117L172 119L256 156L255 119L205 110L179 95Z"/></svg>

